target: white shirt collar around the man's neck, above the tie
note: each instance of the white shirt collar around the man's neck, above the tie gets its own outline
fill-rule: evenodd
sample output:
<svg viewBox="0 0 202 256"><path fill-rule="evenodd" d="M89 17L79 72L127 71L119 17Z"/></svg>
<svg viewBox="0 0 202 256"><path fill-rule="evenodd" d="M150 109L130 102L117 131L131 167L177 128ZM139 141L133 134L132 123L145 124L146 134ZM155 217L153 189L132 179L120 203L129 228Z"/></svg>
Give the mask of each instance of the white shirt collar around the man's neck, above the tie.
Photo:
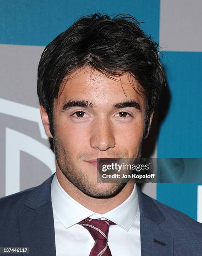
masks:
<svg viewBox="0 0 202 256"><path fill-rule="evenodd" d="M51 199L53 212L57 215L61 223L63 223L65 228L69 228L79 221L91 217L92 219L106 218L128 231L134 223L139 211L136 184L134 184L131 195L122 202L121 205L104 214L99 214L87 209L69 196L58 182L56 174L51 184Z"/></svg>

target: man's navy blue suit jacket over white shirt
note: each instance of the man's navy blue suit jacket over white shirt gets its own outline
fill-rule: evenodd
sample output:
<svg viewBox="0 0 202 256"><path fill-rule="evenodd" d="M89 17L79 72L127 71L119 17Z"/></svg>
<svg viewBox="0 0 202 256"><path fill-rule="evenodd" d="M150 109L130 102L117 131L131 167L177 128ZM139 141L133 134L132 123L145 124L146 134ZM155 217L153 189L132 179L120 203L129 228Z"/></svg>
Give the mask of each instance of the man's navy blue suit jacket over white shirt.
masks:
<svg viewBox="0 0 202 256"><path fill-rule="evenodd" d="M29 247L29 256L56 255L53 175L38 187L0 199L0 247ZM141 255L202 256L202 224L137 191Z"/></svg>

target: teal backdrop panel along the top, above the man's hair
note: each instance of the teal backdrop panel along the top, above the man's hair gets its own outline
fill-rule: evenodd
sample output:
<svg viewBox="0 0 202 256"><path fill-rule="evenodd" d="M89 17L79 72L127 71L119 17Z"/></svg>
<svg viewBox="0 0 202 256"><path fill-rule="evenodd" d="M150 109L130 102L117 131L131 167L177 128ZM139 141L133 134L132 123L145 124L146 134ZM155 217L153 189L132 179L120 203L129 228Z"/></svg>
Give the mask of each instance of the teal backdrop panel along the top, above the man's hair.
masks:
<svg viewBox="0 0 202 256"><path fill-rule="evenodd" d="M81 15L134 15L159 39L159 0L0 0L0 44L45 46Z"/></svg>

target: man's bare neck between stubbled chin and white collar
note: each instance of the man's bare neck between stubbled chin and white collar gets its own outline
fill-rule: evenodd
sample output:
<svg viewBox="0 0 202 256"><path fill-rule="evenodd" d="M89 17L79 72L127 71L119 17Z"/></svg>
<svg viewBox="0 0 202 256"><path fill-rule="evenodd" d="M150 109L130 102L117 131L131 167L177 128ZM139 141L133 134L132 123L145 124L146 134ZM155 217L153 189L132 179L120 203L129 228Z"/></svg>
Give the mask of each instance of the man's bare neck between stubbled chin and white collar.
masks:
<svg viewBox="0 0 202 256"><path fill-rule="evenodd" d="M56 175L61 187L69 196L71 196L74 200L76 200L78 203L88 208L89 210L100 214L109 212L115 207L121 205L121 203L124 202L131 195L131 192L134 188L134 183L127 183L126 186L113 197L94 198L84 194L80 189L72 184L64 176L61 170L57 170Z"/></svg>

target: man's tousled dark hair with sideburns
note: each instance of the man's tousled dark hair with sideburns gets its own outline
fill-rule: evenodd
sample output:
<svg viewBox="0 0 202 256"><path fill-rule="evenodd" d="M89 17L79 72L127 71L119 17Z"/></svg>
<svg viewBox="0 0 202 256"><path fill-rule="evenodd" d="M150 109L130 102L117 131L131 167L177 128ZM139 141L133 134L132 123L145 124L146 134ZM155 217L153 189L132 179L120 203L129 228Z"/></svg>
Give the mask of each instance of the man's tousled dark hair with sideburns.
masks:
<svg viewBox="0 0 202 256"><path fill-rule="evenodd" d="M63 79L88 65L107 76L129 73L136 79L146 99L144 136L164 86L159 45L146 36L131 15L96 13L79 18L48 44L38 65L37 93L53 129L53 101L58 98Z"/></svg>

